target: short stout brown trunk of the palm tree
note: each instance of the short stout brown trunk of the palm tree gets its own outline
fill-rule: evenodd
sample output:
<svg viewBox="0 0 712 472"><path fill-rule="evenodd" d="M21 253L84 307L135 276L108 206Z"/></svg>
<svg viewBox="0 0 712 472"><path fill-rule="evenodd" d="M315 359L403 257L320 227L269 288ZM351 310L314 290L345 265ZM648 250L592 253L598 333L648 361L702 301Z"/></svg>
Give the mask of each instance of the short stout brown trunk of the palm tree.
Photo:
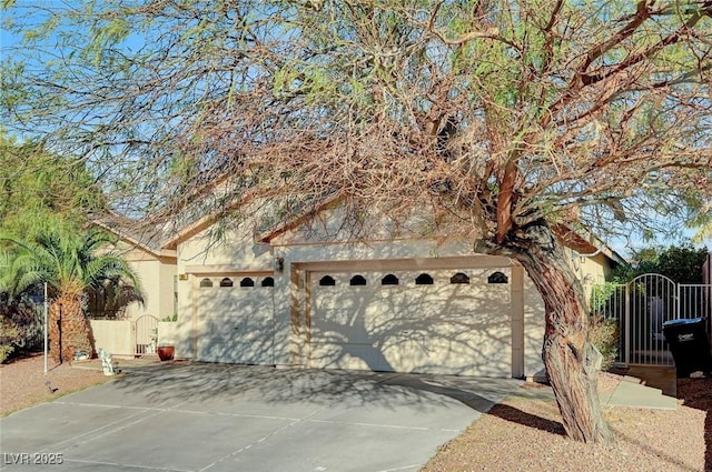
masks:
<svg viewBox="0 0 712 472"><path fill-rule="evenodd" d="M95 355L91 325L81 309L81 293L60 293L52 303L50 313L52 359L58 362L72 360L77 351L85 351L90 358ZM55 331L51 330L52 327Z"/></svg>

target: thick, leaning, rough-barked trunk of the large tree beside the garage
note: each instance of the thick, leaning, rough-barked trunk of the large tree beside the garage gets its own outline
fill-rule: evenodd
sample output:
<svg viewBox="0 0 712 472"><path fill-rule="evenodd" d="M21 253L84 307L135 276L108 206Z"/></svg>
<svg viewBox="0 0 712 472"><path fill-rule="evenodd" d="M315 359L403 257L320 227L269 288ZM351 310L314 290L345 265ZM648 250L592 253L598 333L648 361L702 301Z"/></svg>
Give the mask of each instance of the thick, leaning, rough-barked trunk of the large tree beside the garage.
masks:
<svg viewBox="0 0 712 472"><path fill-rule="evenodd" d="M524 265L544 300L542 359L564 429L576 441L611 442L613 435L597 393L601 354L587 341L589 313L583 287L546 223L537 222L525 233L531 244L525 250L520 245L514 258Z"/></svg>

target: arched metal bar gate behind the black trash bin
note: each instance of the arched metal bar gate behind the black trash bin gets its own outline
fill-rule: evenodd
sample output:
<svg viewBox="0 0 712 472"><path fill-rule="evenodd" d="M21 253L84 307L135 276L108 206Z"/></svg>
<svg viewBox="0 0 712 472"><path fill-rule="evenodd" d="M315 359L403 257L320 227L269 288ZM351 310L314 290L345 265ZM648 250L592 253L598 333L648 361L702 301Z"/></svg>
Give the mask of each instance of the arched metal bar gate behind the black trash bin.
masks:
<svg viewBox="0 0 712 472"><path fill-rule="evenodd" d="M601 304L606 319L620 329L619 361L637 365L674 365L663 335L663 323L704 318L712 332L712 285L678 284L661 274L639 275L625 285L613 285Z"/></svg>

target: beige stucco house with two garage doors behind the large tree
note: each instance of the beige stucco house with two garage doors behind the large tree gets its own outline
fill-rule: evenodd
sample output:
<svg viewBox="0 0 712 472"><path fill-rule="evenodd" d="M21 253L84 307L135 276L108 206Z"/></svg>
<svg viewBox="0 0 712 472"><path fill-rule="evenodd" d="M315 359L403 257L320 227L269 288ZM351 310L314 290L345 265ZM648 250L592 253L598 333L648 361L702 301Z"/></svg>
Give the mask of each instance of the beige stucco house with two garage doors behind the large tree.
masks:
<svg viewBox="0 0 712 472"><path fill-rule="evenodd" d="M258 234L244 221L218 241L202 218L157 250L136 241L135 263L175 254L178 319L169 332L161 323L158 342L205 362L541 374L544 304L520 264L474 253L472 238L424 235L418 222L395 231L384 220L353 241L345 218L329 204ZM560 237L584 283L621 261L567 229ZM148 300L172 273L145 281Z"/></svg>

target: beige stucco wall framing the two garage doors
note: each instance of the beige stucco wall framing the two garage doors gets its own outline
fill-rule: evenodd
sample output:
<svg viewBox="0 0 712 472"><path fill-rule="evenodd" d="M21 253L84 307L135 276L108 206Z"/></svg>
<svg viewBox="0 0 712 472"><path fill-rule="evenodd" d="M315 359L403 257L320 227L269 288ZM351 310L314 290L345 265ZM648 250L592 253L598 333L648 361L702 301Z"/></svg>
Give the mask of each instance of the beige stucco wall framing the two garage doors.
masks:
<svg viewBox="0 0 712 472"><path fill-rule="evenodd" d="M544 337L544 303L533 282L523 269L507 258L473 253L472 240L461 241L418 239L399 234L395 240L380 239L384 233L374 233L368 242L323 242L319 238L334 238L337 228L327 219L324 233L310 228L288 231L274 239L270 244L256 243L253 227L248 223L225 231L218 243L210 231L180 242L177 248L178 323L176 324L176 355L195 355L195 339L199 331L198 284L206 275L240 277L270 273L274 288L274 347L275 364L305 365L306 317L309 304L305 294L310 272L376 271L386 267L400 269L432 269L446 267L507 268L511 274L511 310L513 344L511 355L513 371L527 378L543 375L541 360ZM337 238L338 240L338 238ZM596 254L590 258L568 252L572 269L586 285L602 282L610 265L607 258ZM281 272L274 271L275 260L284 260ZM458 262L452 262L458 260ZM448 262L449 261L449 262ZM449 264L449 265L448 265ZM515 284L516 281L516 284ZM521 289L520 289L521 288ZM518 327L518 328L517 328Z"/></svg>

